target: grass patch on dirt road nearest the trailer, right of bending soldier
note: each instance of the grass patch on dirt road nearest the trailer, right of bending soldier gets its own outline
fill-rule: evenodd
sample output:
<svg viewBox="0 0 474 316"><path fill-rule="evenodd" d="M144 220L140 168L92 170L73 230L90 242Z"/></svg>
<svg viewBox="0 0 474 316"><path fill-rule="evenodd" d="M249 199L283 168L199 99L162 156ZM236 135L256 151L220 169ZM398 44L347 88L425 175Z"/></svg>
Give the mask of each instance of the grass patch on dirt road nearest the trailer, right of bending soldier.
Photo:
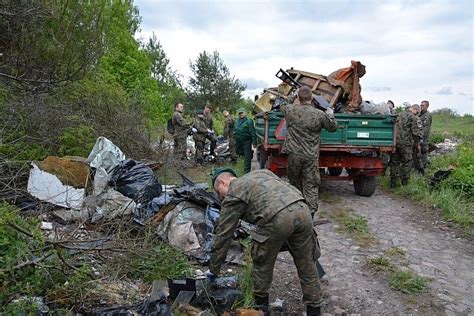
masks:
<svg viewBox="0 0 474 316"><path fill-rule="evenodd" d="M339 209L325 212L324 215L334 219L339 224L339 231L346 232L360 246L368 247L376 243L376 239L370 234L367 219L356 215L351 209Z"/></svg>

